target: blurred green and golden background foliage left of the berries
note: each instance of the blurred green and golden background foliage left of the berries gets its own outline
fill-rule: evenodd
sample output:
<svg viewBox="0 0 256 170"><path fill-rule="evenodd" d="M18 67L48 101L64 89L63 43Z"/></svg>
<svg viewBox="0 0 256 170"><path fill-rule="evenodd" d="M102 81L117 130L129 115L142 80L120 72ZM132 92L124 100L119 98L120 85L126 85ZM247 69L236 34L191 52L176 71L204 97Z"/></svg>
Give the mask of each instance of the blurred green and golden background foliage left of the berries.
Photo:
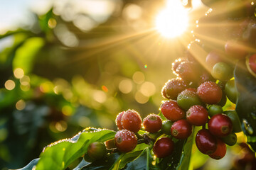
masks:
<svg viewBox="0 0 256 170"><path fill-rule="evenodd" d="M117 130L128 108L159 113L171 63L191 40L156 33L164 0L29 3L26 22L0 29L0 169L21 168L83 128ZM196 166L203 157L193 154Z"/></svg>

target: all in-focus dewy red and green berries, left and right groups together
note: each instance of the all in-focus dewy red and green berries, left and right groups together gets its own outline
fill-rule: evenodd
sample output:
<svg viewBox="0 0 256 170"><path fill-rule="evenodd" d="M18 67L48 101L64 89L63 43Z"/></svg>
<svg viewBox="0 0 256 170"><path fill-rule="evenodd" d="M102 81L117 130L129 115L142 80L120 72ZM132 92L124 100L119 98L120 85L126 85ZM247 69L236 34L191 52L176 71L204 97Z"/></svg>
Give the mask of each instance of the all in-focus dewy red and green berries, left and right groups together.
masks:
<svg viewBox="0 0 256 170"><path fill-rule="evenodd" d="M134 110L119 113L116 118L119 131L114 137L114 147L119 152L132 151L138 144L138 137L145 137L138 133L143 128L149 138L149 134L158 134L150 138L155 156L168 157L174 150L172 138L186 140L192 134L193 126L201 126L202 129L196 134L198 149L213 159L224 157L226 145L235 145L235 132L241 131L237 113L223 111L227 101L225 91L228 91L225 86L231 86L233 80L219 81L221 83L217 84L216 79L191 58L176 60L173 69L178 77L167 81L161 91L168 99L160 106L166 120L151 113L142 121ZM199 76L193 76L195 70L203 72L198 71L196 74Z"/></svg>

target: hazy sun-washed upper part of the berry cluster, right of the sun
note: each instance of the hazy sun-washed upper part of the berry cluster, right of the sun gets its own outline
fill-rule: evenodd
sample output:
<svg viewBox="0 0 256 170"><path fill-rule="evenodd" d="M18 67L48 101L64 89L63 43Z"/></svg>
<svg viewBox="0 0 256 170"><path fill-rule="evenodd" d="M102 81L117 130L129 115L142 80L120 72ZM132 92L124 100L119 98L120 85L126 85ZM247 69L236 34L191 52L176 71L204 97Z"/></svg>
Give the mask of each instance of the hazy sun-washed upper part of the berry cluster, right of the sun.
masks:
<svg viewBox="0 0 256 170"><path fill-rule="evenodd" d="M210 10L197 21L193 32L201 40L203 50L209 52L206 65L212 69L213 77L228 81L238 60L245 63L248 71L256 77L255 2L228 0L208 3L210 1L202 0ZM226 6L225 10L223 6ZM222 15L218 15L220 11ZM209 23L218 24L209 27Z"/></svg>

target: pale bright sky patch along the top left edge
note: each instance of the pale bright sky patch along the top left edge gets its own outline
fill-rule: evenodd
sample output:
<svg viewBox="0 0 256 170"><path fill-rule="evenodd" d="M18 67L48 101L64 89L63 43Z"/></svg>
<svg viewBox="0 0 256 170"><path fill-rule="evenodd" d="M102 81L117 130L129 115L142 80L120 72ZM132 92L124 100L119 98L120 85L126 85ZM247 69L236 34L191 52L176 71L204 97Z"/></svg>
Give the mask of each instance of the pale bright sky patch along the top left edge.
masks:
<svg viewBox="0 0 256 170"><path fill-rule="evenodd" d="M42 15L53 6L53 2L58 6L57 11L58 9L63 9L66 4L70 4L73 7L72 11L66 11L69 17L76 14L74 11L86 12L90 13L95 21L101 23L112 13L116 1L117 0L0 0L0 34L4 34L7 30L16 30L16 28L22 26L29 26L29 24L33 23L31 22L31 20L33 20L31 11Z"/></svg>

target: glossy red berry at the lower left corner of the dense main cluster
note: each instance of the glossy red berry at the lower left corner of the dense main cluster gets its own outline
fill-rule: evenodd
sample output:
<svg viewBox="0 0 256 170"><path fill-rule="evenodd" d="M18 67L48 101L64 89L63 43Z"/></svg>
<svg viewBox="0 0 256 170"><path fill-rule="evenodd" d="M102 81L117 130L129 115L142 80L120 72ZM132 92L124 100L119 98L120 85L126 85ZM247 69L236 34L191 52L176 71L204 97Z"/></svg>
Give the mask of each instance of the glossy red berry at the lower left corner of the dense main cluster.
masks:
<svg viewBox="0 0 256 170"><path fill-rule="evenodd" d="M171 125L171 135L176 139L182 140L188 138L192 133L192 125L187 120L177 120Z"/></svg>

